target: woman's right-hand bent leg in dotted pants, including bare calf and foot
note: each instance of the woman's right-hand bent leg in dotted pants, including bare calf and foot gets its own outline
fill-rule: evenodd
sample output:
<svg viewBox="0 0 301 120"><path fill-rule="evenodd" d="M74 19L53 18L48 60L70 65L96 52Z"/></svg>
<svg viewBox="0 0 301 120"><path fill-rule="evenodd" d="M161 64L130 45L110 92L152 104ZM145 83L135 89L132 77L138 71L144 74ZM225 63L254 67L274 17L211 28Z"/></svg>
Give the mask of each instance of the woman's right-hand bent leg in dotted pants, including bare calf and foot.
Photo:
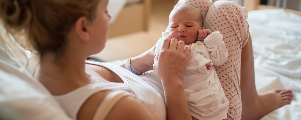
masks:
<svg viewBox="0 0 301 120"><path fill-rule="evenodd" d="M260 119L290 103L290 90L268 91L258 95L255 87L252 42L246 21L247 11L232 1L216 1L207 12L204 25L219 31L228 49L228 59L215 66L230 106L230 119Z"/></svg>

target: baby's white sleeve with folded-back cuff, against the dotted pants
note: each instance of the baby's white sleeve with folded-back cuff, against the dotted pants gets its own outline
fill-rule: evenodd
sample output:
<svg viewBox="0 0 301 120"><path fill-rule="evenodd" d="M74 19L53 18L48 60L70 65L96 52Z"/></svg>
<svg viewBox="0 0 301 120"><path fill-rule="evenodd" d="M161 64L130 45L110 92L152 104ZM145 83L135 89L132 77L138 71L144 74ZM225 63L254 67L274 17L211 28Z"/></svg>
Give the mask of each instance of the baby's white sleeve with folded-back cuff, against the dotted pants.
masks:
<svg viewBox="0 0 301 120"><path fill-rule="evenodd" d="M213 65L224 64L228 57L228 50L222 39L222 34L220 34L219 31L212 32L204 39Z"/></svg>

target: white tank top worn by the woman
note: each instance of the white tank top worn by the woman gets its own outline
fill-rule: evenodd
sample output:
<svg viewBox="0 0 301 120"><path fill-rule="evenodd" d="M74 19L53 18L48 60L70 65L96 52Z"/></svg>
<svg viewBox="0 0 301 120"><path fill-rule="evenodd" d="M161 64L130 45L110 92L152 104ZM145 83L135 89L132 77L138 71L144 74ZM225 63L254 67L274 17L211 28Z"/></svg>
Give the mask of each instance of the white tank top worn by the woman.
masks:
<svg viewBox="0 0 301 120"><path fill-rule="evenodd" d="M166 108L163 98L160 94L141 79L139 76L130 71L110 63L100 63L93 61L86 61L88 64L95 64L106 67L116 73L124 83L109 82L105 79L98 79L98 83L91 83L70 91L64 95L55 95L54 98L59 102L61 107L72 118L77 119L77 113L82 104L93 94L104 90L126 90L135 95L138 101L147 108L147 110L158 118L166 119ZM100 105L101 106L101 105ZM98 108L97 111L106 111ZM107 110L108 111L108 110ZM105 117L104 117L105 119Z"/></svg>

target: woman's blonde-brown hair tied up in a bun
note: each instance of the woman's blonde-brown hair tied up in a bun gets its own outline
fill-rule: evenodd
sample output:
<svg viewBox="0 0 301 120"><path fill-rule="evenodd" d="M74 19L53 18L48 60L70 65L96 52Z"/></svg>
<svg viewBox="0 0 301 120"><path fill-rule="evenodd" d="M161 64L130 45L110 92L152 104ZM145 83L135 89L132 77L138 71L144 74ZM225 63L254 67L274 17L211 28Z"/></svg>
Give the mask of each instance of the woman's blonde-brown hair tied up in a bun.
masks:
<svg viewBox="0 0 301 120"><path fill-rule="evenodd" d="M100 0L0 0L0 18L8 32L24 32L42 57L64 52L67 34L76 20L96 17Z"/></svg>

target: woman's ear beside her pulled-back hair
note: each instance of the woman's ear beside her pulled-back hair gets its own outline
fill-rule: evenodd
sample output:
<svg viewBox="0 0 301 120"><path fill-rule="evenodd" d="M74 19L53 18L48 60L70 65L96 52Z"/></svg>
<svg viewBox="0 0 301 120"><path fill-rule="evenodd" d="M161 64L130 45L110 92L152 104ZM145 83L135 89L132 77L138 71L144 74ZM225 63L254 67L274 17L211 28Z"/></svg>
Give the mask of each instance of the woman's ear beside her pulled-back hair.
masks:
<svg viewBox="0 0 301 120"><path fill-rule="evenodd" d="M82 16L76 20L75 31L79 38L81 38L83 41L90 40L90 33L88 31L88 20L86 17Z"/></svg>

